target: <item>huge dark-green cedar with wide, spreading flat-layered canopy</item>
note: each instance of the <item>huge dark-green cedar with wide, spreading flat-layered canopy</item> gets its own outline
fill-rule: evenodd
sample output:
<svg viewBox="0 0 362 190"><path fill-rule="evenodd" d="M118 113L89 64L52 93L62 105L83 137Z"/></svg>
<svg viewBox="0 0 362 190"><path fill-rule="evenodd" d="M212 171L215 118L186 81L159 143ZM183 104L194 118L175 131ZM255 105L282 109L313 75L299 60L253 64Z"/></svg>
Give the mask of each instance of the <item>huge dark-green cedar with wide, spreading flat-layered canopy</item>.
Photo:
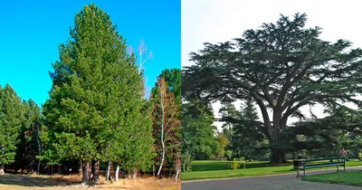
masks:
<svg viewBox="0 0 362 190"><path fill-rule="evenodd" d="M306 22L306 14L281 15L232 42L205 43L202 51L191 53L195 65L182 76L186 97L233 101L252 96L262 111L260 131L270 142L272 163L287 161L283 132L291 117L305 119L301 107L361 104L356 96L362 90L362 51L346 40L319 39L321 29L306 28Z"/></svg>

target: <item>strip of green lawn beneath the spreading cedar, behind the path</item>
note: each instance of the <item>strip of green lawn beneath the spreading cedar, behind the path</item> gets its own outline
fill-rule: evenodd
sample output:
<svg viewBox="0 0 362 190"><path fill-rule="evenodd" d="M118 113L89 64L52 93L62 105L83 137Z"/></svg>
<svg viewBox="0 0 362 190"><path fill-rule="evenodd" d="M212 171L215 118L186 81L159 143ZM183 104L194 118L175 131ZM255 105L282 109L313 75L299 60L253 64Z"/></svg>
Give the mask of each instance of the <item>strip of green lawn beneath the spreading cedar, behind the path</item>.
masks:
<svg viewBox="0 0 362 190"><path fill-rule="evenodd" d="M246 162L246 169L228 169L227 161L212 161L212 160L201 160L194 161L192 164L192 172L183 172L181 174L182 181L195 180L195 179L211 179L211 178L226 178L226 177L237 177L237 176L266 176L276 174L288 174L297 173L292 169L292 164L284 165L271 165L268 162L252 161ZM232 163L230 161L229 163ZM362 166L362 162L357 159L350 159L347 162L347 166ZM329 169L336 167L324 167L317 169ZM309 169L317 170L317 169Z"/></svg>

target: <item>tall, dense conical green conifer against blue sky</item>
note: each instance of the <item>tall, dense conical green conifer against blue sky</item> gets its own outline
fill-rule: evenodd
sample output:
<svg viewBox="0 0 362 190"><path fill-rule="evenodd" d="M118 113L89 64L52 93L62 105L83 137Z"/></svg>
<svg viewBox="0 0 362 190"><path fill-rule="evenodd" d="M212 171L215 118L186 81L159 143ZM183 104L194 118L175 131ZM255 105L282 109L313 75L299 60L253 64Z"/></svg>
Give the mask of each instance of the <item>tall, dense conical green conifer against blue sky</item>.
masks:
<svg viewBox="0 0 362 190"><path fill-rule="evenodd" d="M90 182L92 161L119 162L129 151L137 152L123 157L125 165L142 167L139 160L148 151L134 147L152 146L149 122L138 123L145 118L142 73L110 16L96 5L84 6L52 66L50 100L43 105L42 137L49 141L43 159L81 160L82 183Z"/></svg>

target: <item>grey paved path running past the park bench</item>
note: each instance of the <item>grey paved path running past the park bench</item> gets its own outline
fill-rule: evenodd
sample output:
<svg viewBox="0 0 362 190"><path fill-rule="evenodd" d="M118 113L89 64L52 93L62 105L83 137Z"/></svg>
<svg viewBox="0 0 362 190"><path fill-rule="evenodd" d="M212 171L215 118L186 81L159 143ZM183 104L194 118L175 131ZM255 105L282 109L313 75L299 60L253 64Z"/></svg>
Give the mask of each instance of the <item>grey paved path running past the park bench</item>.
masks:
<svg viewBox="0 0 362 190"><path fill-rule="evenodd" d="M362 170L362 166L348 167L348 171ZM335 169L306 171L306 176L333 173ZM301 174L302 175L302 174ZM181 183L182 190L362 190L362 187L348 185L331 185L301 181L296 173L274 176L237 177L225 179L195 180Z"/></svg>

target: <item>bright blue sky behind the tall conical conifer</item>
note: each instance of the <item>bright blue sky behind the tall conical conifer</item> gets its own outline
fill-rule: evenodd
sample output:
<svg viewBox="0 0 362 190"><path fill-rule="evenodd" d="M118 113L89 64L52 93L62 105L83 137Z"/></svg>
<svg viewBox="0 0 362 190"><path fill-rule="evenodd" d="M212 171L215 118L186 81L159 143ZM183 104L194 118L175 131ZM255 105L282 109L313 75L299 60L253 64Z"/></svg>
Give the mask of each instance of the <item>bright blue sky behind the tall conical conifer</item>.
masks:
<svg viewBox="0 0 362 190"><path fill-rule="evenodd" d="M145 63L149 88L164 69L181 67L181 3L169 0L11 1L0 3L0 84L10 84L24 100L49 98L52 62L66 43L74 16L95 3L110 14L135 51L141 39L153 58Z"/></svg>

